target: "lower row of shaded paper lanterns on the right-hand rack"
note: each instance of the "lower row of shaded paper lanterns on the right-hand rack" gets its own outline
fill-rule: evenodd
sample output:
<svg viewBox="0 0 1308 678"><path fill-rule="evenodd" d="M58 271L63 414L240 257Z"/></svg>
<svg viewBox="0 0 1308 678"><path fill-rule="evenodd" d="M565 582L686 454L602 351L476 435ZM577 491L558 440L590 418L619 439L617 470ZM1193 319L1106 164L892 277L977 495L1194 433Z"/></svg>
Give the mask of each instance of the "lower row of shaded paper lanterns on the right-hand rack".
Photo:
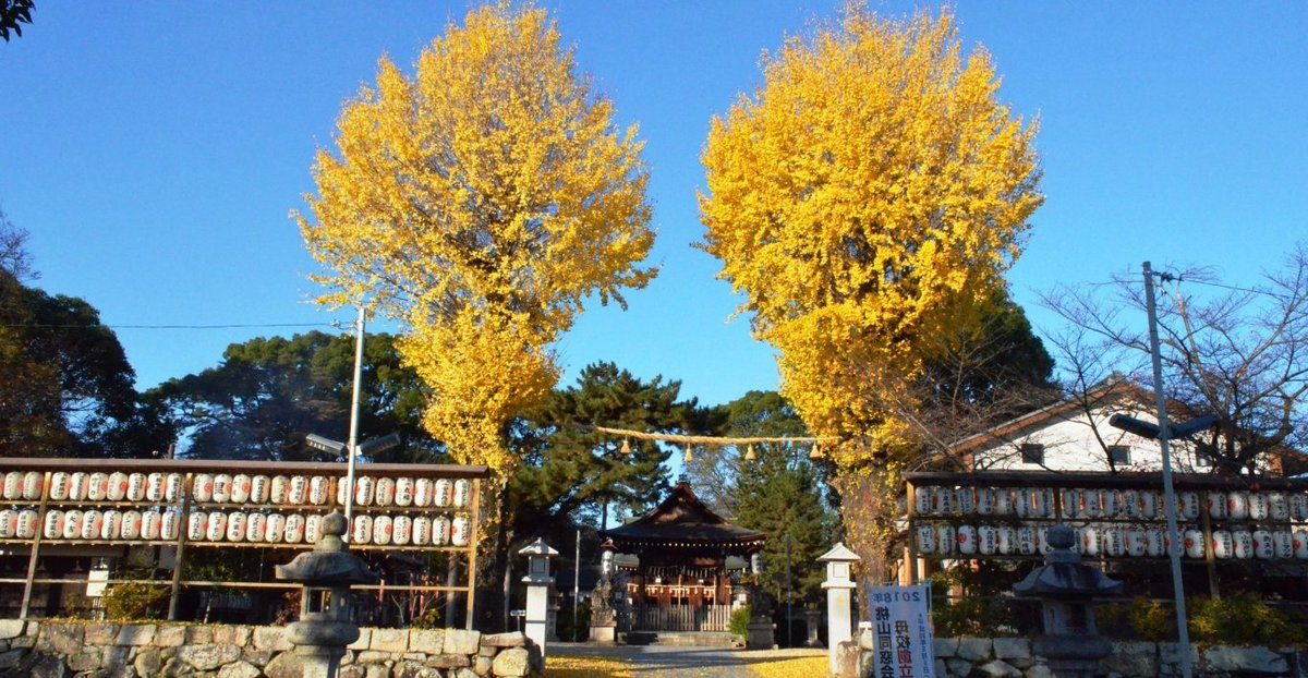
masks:
<svg viewBox="0 0 1308 678"><path fill-rule="evenodd" d="M1035 555L1048 554L1049 527L993 527L989 525L920 525L917 551L922 555ZM1126 525L1087 525L1075 527L1074 550L1087 556L1164 556L1167 533L1162 527L1141 529ZM1205 558L1203 533L1196 529L1181 535L1188 558ZM1305 559L1308 530L1214 530L1213 555L1220 559Z"/></svg>

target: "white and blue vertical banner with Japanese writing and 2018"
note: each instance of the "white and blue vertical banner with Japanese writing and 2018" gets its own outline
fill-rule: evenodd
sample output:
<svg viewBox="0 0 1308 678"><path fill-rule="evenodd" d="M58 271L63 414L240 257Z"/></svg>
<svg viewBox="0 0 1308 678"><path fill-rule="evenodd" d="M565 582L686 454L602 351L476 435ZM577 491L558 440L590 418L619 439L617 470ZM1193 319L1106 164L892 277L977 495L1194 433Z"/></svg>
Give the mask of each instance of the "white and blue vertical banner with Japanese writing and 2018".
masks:
<svg viewBox="0 0 1308 678"><path fill-rule="evenodd" d="M935 678L931 589L869 586L872 611L872 678Z"/></svg>

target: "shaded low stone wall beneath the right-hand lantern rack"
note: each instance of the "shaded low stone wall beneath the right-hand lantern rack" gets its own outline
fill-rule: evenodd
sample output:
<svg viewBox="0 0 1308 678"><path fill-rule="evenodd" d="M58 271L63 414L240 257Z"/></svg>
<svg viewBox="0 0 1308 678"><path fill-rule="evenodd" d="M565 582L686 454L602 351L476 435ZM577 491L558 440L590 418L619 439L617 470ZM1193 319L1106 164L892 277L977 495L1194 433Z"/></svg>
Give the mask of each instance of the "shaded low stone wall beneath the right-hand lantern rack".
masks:
<svg viewBox="0 0 1308 678"><path fill-rule="evenodd" d="M865 641L866 645L866 641ZM853 658L854 644L841 644L845 657ZM871 648L863 647L861 674L872 677ZM1190 662L1196 675L1207 678L1253 675L1308 675L1308 652L1298 648L1236 648L1215 645L1194 648ZM1044 660L1031 652L1031 641L1020 637L948 637L935 639L935 673L938 678L1050 678ZM1113 643L1113 653L1099 662L1097 675L1118 678L1154 678L1180 675L1176 643Z"/></svg>

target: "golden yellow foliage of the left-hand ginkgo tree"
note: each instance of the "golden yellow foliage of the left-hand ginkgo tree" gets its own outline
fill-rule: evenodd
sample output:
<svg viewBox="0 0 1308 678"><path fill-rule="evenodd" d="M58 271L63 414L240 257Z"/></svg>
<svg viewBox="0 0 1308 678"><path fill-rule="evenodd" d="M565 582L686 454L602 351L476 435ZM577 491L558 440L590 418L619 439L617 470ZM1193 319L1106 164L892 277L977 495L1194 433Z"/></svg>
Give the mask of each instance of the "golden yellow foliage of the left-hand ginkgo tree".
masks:
<svg viewBox="0 0 1308 678"><path fill-rule="evenodd" d="M366 300L408 331L425 423L466 462L509 471L502 429L557 378L551 342L583 300L624 304L655 270L636 128L576 71L543 9L468 12L412 75L388 58L347 102L336 152L296 213L328 305Z"/></svg>

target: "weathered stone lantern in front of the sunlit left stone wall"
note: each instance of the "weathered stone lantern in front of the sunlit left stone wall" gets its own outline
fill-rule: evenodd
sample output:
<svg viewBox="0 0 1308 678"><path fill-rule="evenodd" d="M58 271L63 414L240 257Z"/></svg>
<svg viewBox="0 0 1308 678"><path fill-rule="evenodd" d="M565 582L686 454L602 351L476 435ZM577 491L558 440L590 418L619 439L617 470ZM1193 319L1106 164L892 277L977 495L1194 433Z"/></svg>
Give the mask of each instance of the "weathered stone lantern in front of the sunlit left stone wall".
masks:
<svg viewBox="0 0 1308 678"><path fill-rule="evenodd" d="M351 618L349 588L377 584L379 577L348 551L341 539L345 529L345 517L331 512L322 521L322 537L314 550L276 567L279 580L303 585L300 620L286 627L286 639L296 645L294 654L301 660L290 674L334 678L345 645L358 640L358 626Z"/></svg>

